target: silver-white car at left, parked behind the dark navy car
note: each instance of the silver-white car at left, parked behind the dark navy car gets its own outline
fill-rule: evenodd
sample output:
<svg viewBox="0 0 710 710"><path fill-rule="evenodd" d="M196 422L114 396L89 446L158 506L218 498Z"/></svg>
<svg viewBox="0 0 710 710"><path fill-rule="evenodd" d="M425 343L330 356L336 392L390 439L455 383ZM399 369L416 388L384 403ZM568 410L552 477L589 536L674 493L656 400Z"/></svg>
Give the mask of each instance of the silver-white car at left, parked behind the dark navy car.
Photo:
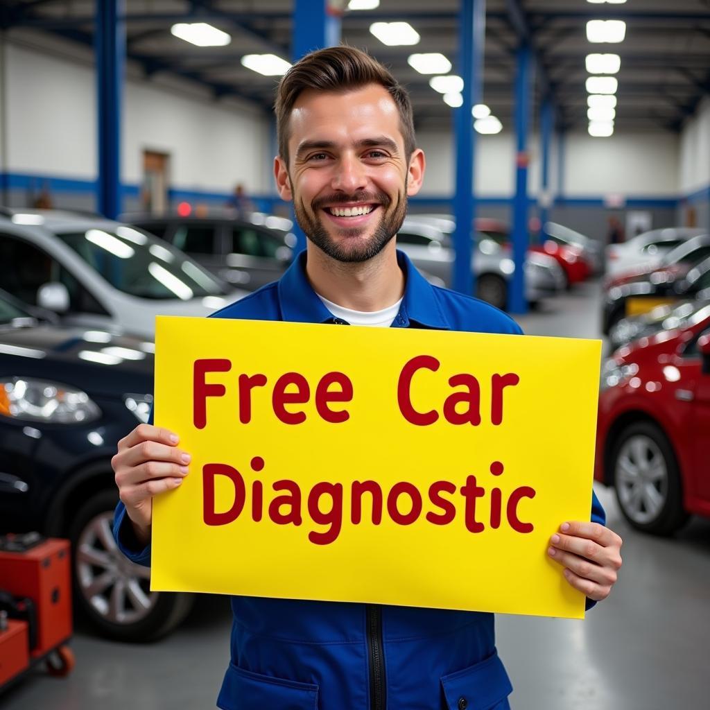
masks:
<svg viewBox="0 0 710 710"><path fill-rule="evenodd" d="M135 227L60 210L0 211L0 288L62 322L145 338L156 315L204 316L244 295Z"/></svg>

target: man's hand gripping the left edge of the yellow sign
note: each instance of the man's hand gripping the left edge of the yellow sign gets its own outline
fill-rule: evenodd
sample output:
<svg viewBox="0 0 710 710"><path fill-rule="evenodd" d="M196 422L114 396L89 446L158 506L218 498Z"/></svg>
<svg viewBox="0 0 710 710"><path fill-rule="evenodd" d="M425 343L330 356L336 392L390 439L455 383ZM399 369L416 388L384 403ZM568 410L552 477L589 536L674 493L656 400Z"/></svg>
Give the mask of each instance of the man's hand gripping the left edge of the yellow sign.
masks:
<svg viewBox="0 0 710 710"><path fill-rule="evenodd" d="M151 539L153 496L178 488L187 476L190 454L177 448L178 440L167 429L139 424L111 459L119 498L143 545Z"/></svg>

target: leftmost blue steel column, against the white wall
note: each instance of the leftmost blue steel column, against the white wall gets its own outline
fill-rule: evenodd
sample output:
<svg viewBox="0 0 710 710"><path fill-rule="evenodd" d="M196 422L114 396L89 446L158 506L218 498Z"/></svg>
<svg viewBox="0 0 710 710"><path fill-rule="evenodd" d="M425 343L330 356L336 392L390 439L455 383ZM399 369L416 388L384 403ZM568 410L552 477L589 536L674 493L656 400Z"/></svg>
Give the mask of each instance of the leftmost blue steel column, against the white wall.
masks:
<svg viewBox="0 0 710 710"><path fill-rule="evenodd" d="M109 219L121 213L121 93L126 57L124 0L96 3L99 175L97 210Z"/></svg>

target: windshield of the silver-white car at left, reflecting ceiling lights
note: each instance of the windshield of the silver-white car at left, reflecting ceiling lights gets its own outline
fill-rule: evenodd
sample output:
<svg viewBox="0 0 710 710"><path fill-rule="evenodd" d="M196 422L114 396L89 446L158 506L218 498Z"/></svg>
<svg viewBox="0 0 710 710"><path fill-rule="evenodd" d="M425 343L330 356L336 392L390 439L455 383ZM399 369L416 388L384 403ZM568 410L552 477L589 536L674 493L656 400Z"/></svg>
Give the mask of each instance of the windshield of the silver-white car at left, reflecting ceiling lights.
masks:
<svg viewBox="0 0 710 710"><path fill-rule="evenodd" d="M129 226L57 235L114 288L170 299L225 295L226 288L185 254Z"/></svg>

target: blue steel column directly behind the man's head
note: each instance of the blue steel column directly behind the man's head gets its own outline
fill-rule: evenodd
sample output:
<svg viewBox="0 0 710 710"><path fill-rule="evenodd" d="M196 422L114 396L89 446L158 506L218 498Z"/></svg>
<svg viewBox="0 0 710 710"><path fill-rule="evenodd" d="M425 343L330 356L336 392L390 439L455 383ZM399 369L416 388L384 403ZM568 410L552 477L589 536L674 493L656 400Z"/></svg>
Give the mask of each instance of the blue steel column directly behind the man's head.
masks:
<svg viewBox="0 0 710 710"><path fill-rule="evenodd" d="M328 0L295 0L291 28L291 58L297 62L307 53L340 43L340 17L329 10ZM305 234L293 220L296 248L306 246Z"/></svg>

